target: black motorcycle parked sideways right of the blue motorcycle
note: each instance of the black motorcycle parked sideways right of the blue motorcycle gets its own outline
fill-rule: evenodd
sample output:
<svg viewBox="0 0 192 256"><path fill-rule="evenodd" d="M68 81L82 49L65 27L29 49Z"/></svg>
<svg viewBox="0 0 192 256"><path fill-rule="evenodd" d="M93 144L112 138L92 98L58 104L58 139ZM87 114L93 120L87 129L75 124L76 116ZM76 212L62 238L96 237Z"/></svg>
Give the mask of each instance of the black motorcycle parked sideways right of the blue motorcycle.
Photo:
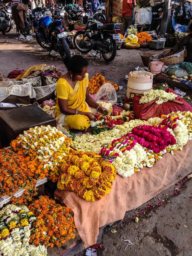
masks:
<svg viewBox="0 0 192 256"><path fill-rule="evenodd" d="M117 52L117 39L120 39L120 23L112 23L103 25L100 21L96 21L98 13L93 16L85 14L87 24L85 30L79 30L73 38L74 45L81 53L88 53L92 49L100 51L102 58L106 62L114 60ZM85 19L84 19L85 20ZM97 54L96 53L96 54Z"/></svg>

